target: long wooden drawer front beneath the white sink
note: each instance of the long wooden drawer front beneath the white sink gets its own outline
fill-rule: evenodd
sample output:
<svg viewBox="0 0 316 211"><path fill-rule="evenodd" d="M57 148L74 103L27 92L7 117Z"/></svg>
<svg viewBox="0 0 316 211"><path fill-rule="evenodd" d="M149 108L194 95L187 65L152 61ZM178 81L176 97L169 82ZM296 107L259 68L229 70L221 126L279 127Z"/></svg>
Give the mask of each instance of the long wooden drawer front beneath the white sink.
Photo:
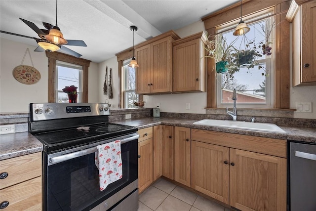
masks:
<svg viewBox="0 0 316 211"><path fill-rule="evenodd" d="M191 129L191 139L286 158L286 140L202 129Z"/></svg>

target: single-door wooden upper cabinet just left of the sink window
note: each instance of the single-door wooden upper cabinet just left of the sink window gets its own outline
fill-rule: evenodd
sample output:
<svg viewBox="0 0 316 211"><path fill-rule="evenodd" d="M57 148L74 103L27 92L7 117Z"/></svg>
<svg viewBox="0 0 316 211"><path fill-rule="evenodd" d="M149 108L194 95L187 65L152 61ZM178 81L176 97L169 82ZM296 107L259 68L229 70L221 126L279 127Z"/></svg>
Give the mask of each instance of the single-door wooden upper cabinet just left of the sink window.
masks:
<svg viewBox="0 0 316 211"><path fill-rule="evenodd" d="M173 42L173 92L206 90L203 32Z"/></svg>

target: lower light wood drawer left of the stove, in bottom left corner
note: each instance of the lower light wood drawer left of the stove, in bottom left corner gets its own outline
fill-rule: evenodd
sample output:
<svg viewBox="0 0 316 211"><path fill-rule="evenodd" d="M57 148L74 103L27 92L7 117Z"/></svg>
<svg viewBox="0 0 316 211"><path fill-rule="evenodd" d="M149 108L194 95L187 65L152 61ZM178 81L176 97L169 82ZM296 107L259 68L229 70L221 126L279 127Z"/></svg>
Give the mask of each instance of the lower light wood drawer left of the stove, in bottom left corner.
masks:
<svg viewBox="0 0 316 211"><path fill-rule="evenodd" d="M8 211L40 211L41 176L2 189L0 198L9 202Z"/></svg>

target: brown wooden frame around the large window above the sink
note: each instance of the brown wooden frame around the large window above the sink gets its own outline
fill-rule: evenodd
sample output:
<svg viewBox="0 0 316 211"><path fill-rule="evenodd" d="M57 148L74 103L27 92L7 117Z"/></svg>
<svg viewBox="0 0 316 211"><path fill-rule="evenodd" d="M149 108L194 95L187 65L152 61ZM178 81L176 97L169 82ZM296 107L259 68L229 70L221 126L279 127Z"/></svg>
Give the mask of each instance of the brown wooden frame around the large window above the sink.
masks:
<svg viewBox="0 0 316 211"><path fill-rule="evenodd" d="M289 109L289 86L290 86L290 24L286 21L286 11L289 8L289 2L286 0L277 1L243 1L243 17L260 12L262 10L273 8L276 23L275 27L275 82L274 82L274 105L275 109ZM283 12L284 11L284 12ZM215 35L215 28L232 20L240 19L240 2L235 3L218 12L210 14L204 18L205 30L208 35ZM209 37L209 39L214 39ZM206 108L217 108L216 95L216 71L214 59L207 58L207 105Z"/></svg>

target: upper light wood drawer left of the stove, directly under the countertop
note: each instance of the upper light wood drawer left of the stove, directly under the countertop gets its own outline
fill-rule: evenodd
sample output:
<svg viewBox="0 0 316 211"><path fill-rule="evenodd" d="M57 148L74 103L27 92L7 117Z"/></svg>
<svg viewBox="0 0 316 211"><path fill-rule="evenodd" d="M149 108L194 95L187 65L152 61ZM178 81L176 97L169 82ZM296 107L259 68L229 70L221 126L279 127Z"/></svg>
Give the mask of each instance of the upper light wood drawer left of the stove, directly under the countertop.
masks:
<svg viewBox="0 0 316 211"><path fill-rule="evenodd" d="M0 172L8 173L6 178L0 179L0 189L38 177L41 175L41 152L0 161Z"/></svg>

